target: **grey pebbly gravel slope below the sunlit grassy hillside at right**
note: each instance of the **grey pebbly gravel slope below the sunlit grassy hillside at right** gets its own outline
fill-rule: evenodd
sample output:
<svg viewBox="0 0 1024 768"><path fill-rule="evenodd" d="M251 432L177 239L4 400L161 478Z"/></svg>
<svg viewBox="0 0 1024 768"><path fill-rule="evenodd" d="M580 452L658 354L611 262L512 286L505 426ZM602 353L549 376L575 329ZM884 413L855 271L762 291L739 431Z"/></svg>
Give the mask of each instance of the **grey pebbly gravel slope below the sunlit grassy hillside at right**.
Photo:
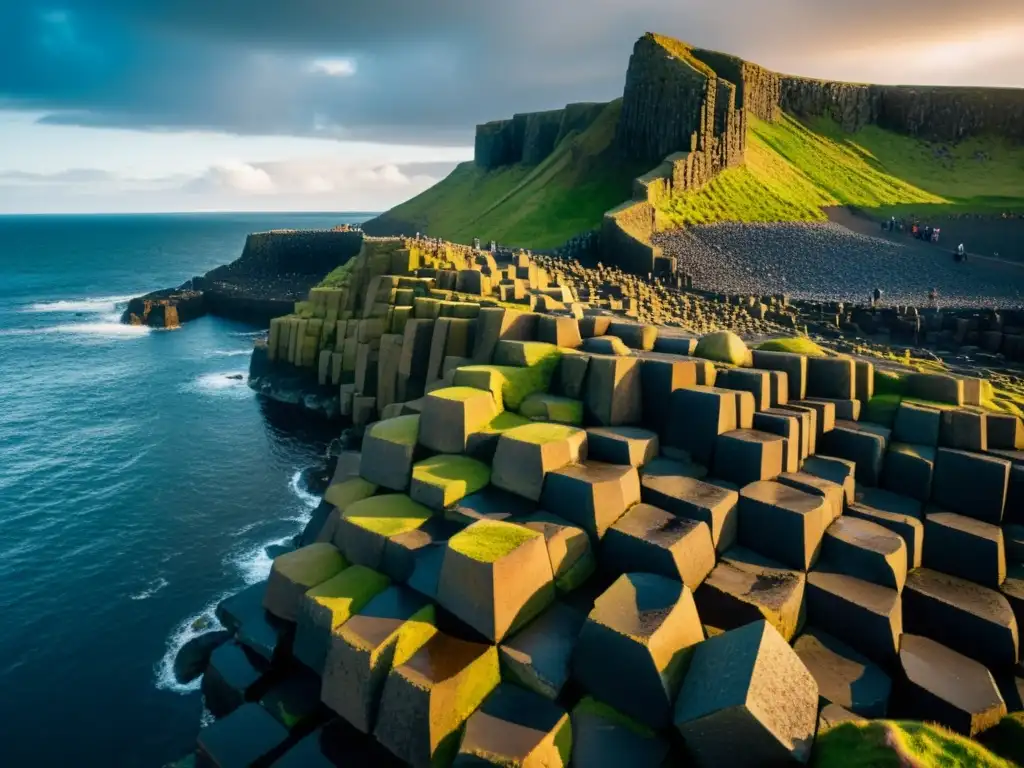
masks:
<svg viewBox="0 0 1024 768"><path fill-rule="evenodd" d="M924 306L1024 306L1024 266L972 259L946 250L892 243L835 223L716 224L660 232L654 243L693 276L694 288L796 299Z"/></svg>

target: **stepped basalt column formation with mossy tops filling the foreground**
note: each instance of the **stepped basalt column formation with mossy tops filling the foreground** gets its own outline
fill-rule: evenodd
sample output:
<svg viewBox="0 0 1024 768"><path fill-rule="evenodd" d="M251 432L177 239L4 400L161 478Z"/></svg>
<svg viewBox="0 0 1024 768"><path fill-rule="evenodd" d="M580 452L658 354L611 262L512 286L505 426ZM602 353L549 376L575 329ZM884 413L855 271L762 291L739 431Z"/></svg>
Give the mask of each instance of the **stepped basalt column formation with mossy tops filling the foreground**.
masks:
<svg viewBox="0 0 1024 768"><path fill-rule="evenodd" d="M330 284L254 357L367 428L218 609L201 765L801 764L1020 708L1024 425L981 380L698 340L681 294L525 253L366 238Z"/></svg>

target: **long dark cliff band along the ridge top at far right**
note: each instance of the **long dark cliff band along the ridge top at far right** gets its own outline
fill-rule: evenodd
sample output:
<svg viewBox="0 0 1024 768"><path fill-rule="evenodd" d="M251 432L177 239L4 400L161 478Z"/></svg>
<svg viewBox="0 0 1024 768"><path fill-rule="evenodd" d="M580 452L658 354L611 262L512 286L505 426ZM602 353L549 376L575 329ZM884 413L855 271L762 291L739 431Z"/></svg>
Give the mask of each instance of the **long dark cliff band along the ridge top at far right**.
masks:
<svg viewBox="0 0 1024 768"><path fill-rule="evenodd" d="M847 131L865 125L932 141L991 135L1024 141L1024 89L860 85L782 78L781 106L826 116Z"/></svg>

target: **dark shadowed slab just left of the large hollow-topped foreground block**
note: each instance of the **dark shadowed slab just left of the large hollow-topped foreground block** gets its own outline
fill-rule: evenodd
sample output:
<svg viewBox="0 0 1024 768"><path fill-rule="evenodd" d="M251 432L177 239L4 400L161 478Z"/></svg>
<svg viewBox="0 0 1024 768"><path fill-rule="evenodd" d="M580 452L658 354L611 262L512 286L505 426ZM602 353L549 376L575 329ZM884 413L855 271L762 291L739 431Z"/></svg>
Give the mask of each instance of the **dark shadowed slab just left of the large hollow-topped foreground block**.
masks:
<svg viewBox="0 0 1024 768"><path fill-rule="evenodd" d="M568 682L572 649L586 620L574 607L553 603L499 646L504 678L557 699Z"/></svg>

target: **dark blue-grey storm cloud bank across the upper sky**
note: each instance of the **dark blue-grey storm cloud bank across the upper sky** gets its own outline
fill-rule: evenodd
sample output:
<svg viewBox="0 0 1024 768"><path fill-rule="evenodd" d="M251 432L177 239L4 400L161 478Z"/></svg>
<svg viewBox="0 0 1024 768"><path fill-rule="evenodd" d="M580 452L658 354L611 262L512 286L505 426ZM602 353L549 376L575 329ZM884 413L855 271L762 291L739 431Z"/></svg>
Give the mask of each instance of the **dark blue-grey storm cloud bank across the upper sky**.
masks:
<svg viewBox="0 0 1024 768"><path fill-rule="evenodd" d="M50 123L464 144L476 122L618 95L646 30L813 75L833 52L1000 24L1024 25L1024 3L23 0L0 3L0 103Z"/></svg>

